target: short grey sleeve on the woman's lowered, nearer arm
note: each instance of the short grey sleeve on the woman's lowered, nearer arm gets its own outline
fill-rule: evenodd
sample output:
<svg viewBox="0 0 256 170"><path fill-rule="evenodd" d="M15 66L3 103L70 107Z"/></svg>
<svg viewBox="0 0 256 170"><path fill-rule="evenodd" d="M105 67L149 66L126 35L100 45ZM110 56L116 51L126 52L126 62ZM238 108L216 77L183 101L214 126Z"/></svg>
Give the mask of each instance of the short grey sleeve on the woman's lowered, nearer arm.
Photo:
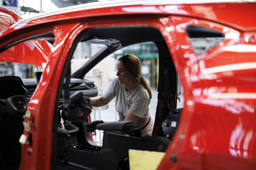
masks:
<svg viewBox="0 0 256 170"><path fill-rule="evenodd" d="M144 92L140 92L140 94L138 94L134 101L132 101L132 105L130 105L130 109L129 109L129 113L134 115L134 116L138 116L139 118L143 118L145 111L148 107L149 104L149 100L148 100L148 96L147 93Z"/></svg>

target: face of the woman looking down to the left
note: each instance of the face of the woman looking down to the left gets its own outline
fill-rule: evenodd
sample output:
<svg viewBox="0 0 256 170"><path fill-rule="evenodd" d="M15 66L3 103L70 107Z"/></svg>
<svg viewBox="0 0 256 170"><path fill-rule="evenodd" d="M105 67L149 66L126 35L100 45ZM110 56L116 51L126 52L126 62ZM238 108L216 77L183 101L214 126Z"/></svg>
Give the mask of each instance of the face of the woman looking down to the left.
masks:
<svg viewBox="0 0 256 170"><path fill-rule="evenodd" d="M130 79L130 76L128 75L127 71L124 70L124 65L122 65L122 61L119 60L116 65L118 80L121 84L128 85L132 83L132 79Z"/></svg>

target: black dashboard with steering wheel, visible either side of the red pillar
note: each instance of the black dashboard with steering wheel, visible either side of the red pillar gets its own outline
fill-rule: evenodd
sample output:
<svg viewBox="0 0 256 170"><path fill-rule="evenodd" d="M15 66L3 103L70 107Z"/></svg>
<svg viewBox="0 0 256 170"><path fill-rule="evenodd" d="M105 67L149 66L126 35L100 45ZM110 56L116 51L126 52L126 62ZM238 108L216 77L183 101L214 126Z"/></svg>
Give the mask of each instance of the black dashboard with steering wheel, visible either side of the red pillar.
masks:
<svg viewBox="0 0 256 170"><path fill-rule="evenodd" d="M0 132L11 132L17 124L22 125L27 103L35 92L36 79L21 79L18 76L0 77ZM64 94L65 80L62 87ZM98 94L94 81L88 79L70 79L70 95L76 91L93 97ZM2 134L2 133L1 133Z"/></svg>

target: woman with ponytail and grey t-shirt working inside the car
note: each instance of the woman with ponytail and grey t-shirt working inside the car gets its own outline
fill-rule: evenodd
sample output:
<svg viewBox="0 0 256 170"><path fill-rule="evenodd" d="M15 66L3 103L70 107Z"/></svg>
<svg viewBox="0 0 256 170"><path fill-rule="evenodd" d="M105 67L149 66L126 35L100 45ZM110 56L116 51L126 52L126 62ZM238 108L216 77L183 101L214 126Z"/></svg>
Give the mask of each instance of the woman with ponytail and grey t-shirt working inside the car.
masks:
<svg viewBox="0 0 256 170"><path fill-rule="evenodd" d="M116 75L118 77L111 81L101 96L88 98L88 104L101 107L116 97L119 121L133 121L132 130L137 132L135 136L151 136L154 121L149 104L152 93L147 81L142 77L140 60L132 54L122 55L117 60ZM100 123L103 121L93 121L87 124L87 127L94 130Z"/></svg>

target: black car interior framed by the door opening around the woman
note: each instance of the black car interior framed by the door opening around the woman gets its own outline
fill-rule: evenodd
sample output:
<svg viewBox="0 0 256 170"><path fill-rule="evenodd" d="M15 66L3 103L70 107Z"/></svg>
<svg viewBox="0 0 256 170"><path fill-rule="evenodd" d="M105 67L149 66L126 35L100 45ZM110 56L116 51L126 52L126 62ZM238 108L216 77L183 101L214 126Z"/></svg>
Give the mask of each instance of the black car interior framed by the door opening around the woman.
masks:
<svg viewBox="0 0 256 170"><path fill-rule="evenodd" d="M65 74L65 71L70 69L69 60L73 55L72 52L74 53L77 43L83 41L89 43L106 43L106 46L100 49L100 51L96 52L96 54L90 57L90 59L88 59L88 61L82 65L81 68L71 75L71 78L81 79L81 81L88 71L95 67L96 64L105 59L105 57L108 57L108 55L120 49L120 47L139 44L141 42L154 42L156 44L158 47L158 55L160 60L160 72L158 79L158 108L156 111L153 136L142 138L135 137L131 130L133 125L132 121L104 123L96 126L98 130L104 131L103 145L96 145L92 142L89 132L87 132L84 127L85 124L90 123L90 120L88 120L88 118L77 118L77 111L79 111L79 108L70 110L68 116L64 115L63 113L65 111L62 110L62 117L63 119L67 120L65 121L64 126L68 126L69 128L65 129L65 131L61 128L61 124L59 123L60 113L55 113L55 119L58 121L56 121L55 124L57 128L54 129L55 137L57 137L55 140L53 140L53 150L55 149L57 151L56 155L54 155L53 152L53 160L57 160L57 167L59 169L65 169L67 166L77 169L102 169L106 167L108 167L107 169L129 169L129 149L164 152L174 135L173 132L173 134L169 134L169 137L166 137L163 130L161 130L161 126L164 119L166 119L166 117L169 115L169 112L176 109L177 72L176 68L174 67L168 46L166 45L160 31L153 26L144 25L106 26L84 30L79 34L72 48L70 49L70 54L66 62L67 64L62 74L62 79L68 79L67 76L69 75ZM164 78L166 77L162 68L165 67L165 63L168 63L169 69L168 78L170 81L168 82L168 87L164 87L164 83L166 83ZM69 71L67 71L67 73L68 72ZM80 82L77 84L71 82L70 84L70 86L73 86L73 88L75 88L74 86L80 86ZM62 83L60 83L59 87L62 86ZM94 94L90 91L92 91L92 89L85 89L82 91L82 93L88 97L97 96L96 91L94 91ZM171 102L169 103L168 107L166 107L167 111L164 111L163 113L163 109L161 107L163 107L164 104L163 99L166 91L169 91L169 94L172 97L170 99ZM69 91L66 90L63 93L61 90L59 90L58 96L66 95L66 92ZM75 91L73 91L71 88L69 95L74 95L74 92ZM56 103L56 107L59 107L60 105L61 103ZM180 115L181 109L176 110L175 113ZM168 128L167 131L169 131ZM67 134L70 134L72 137L68 137Z"/></svg>

